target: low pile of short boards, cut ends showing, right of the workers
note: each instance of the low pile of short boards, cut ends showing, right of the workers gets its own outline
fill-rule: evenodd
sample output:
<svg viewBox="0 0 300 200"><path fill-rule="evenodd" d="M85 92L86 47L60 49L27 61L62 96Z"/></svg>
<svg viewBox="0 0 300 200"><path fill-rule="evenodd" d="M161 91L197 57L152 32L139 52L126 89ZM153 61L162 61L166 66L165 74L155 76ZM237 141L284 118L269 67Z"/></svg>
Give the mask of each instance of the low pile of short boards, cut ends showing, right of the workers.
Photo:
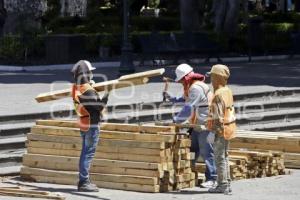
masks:
<svg viewBox="0 0 300 200"><path fill-rule="evenodd" d="M282 152L246 151L235 149L229 151L230 176L232 180L262 178L285 174ZM205 164L197 163L196 171L205 173ZM200 177L203 177L200 175Z"/></svg>

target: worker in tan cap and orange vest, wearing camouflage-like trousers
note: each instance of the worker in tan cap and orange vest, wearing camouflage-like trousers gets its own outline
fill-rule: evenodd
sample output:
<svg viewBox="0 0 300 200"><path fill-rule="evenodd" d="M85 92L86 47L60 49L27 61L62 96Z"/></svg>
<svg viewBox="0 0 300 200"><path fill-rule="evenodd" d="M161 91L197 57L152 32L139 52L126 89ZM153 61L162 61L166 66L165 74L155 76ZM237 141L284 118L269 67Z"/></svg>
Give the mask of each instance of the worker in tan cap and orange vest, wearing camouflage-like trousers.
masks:
<svg viewBox="0 0 300 200"><path fill-rule="evenodd" d="M218 186L210 188L210 193L230 194L230 168L228 162L229 140L235 137L236 123L233 96L227 86L230 71L225 65L214 65L209 72L214 88L214 96L210 106L207 129L211 131L207 140L214 143L217 166Z"/></svg>

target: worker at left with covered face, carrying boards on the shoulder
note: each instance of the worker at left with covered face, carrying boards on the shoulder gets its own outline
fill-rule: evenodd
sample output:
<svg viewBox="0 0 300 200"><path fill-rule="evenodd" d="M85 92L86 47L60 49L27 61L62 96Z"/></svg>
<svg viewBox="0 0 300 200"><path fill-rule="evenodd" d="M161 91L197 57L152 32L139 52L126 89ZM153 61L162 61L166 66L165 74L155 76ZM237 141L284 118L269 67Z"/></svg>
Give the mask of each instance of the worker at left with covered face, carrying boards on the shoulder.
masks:
<svg viewBox="0 0 300 200"><path fill-rule="evenodd" d="M80 60L72 69L75 83L72 87L72 97L75 110L79 117L82 150L79 160L78 191L97 192L97 186L89 179L89 169L95 155L99 140L99 122L101 112L107 104L108 94L102 99L92 87L95 68L89 61Z"/></svg>

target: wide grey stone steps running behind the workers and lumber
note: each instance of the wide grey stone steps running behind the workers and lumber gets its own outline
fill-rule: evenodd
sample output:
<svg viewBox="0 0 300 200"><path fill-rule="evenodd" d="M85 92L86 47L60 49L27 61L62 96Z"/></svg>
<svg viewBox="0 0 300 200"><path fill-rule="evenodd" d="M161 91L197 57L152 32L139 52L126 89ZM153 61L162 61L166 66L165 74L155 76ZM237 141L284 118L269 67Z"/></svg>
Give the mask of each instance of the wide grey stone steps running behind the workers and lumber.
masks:
<svg viewBox="0 0 300 200"><path fill-rule="evenodd" d="M170 121L180 108L180 105L164 102L109 106L105 120L117 123ZM300 90L235 95L235 108L239 129L293 131L300 135ZM57 111L55 116L64 118L69 113L69 110ZM0 175L19 173L26 151L26 134L37 119L50 116L50 113L35 113L0 117Z"/></svg>

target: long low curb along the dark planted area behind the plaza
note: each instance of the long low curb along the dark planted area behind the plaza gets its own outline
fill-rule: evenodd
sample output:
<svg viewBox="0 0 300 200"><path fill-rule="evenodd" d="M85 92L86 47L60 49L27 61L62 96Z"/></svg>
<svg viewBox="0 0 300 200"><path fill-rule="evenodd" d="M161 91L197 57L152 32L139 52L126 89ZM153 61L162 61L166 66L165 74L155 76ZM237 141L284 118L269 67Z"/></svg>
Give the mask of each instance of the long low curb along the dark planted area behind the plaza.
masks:
<svg viewBox="0 0 300 200"><path fill-rule="evenodd" d="M300 55L294 55L293 59L299 59ZM249 57L225 57L221 58L223 62L248 62ZM286 60L291 59L290 55L269 55L269 56L253 56L252 61L270 61L270 60ZM205 63L206 59L190 59L193 63ZM163 64L172 63L171 60L162 60ZM218 62L217 58L211 58L210 62ZM134 61L134 65L138 66L139 61ZM147 65L151 65L151 61L145 61ZM120 61L108 62L92 62L95 68L117 68L120 66ZM70 70L73 64L57 64L57 65L35 65L35 66L14 66L14 65L0 65L0 71L5 72L37 72L37 71L51 71L51 70Z"/></svg>

